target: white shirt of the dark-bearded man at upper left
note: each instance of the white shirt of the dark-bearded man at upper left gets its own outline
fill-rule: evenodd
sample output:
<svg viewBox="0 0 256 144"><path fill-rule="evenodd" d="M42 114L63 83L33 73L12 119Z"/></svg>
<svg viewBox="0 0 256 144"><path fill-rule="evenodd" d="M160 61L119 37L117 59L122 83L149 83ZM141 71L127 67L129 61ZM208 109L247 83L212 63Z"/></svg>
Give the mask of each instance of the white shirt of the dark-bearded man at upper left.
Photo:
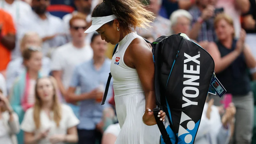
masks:
<svg viewBox="0 0 256 144"><path fill-rule="evenodd" d="M12 51L12 59L20 57L20 40L28 31L38 33L41 38L46 36L53 36L55 34L64 34L63 22L59 17L51 15L49 12L46 14L47 19L42 20L34 11L27 13L27 17L19 22L17 27L17 40L15 50ZM65 36L55 36L53 39L45 41L42 46L44 56L51 52L51 48L55 48L66 44L67 39Z"/></svg>

